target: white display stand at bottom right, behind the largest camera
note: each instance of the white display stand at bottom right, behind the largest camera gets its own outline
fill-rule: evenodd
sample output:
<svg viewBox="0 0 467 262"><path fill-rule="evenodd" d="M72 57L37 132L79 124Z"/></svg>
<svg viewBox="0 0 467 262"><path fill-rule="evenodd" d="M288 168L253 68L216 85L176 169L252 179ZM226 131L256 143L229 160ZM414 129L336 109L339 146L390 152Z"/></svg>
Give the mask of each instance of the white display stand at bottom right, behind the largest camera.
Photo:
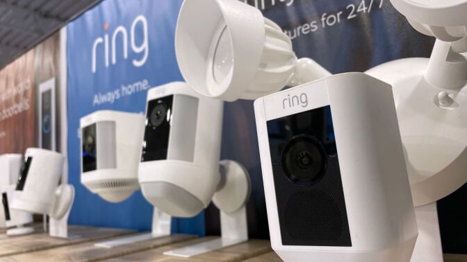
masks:
<svg viewBox="0 0 467 262"><path fill-rule="evenodd" d="M443 248L439 233L436 202L415 208L418 238L411 262L442 262Z"/></svg>

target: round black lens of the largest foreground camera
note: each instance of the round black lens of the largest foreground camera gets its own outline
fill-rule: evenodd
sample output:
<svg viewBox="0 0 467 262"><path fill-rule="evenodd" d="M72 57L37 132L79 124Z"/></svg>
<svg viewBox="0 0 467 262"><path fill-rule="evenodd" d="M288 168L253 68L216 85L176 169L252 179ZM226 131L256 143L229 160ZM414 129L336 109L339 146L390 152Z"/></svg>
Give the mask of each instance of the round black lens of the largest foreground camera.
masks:
<svg viewBox="0 0 467 262"><path fill-rule="evenodd" d="M313 183L325 173L326 154L318 139L300 135L291 139L281 155L282 167L290 180Z"/></svg>

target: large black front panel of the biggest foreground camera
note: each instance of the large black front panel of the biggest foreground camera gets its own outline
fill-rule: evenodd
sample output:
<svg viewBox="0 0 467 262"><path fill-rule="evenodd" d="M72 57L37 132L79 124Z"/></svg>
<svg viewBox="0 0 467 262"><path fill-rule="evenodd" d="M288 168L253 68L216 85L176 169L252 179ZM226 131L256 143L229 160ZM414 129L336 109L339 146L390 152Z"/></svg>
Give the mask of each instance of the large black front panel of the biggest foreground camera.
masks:
<svg viewBox="0 0 467 262"><path fill-rule="evenodd" d="M282 245L352 246L331 107L267 126Z"/></svg>

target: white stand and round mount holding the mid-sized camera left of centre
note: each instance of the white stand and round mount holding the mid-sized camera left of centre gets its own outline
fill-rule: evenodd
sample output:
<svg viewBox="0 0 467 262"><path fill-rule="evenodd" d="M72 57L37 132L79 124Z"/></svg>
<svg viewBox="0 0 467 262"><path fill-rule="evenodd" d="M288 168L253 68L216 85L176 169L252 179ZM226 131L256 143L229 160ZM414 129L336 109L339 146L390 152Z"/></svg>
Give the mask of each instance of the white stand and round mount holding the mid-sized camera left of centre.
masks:
<svg viewBox="0 0 467 262"><path fill-rule="evenodd" d="M220 238L164 252L165 255L190 257L220 250L248 240L247 211L251 182L248 171L236 161L220 161L221 182L213 202L220 211Z"/></svg>

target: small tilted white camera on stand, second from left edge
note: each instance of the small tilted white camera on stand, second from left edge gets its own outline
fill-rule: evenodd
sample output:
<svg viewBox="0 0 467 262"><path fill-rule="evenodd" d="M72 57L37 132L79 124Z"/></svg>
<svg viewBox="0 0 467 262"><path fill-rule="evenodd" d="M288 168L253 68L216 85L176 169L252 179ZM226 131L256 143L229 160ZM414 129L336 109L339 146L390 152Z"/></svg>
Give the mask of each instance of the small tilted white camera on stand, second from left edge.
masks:
<svg viewBox="0 0 467 262"><path fill-rule="evenodd" d="M74 187L58 186L64 161L65 157L58 152L28 148L10 209L48 214L51 217L50 235L66 238Z"/></svg>

